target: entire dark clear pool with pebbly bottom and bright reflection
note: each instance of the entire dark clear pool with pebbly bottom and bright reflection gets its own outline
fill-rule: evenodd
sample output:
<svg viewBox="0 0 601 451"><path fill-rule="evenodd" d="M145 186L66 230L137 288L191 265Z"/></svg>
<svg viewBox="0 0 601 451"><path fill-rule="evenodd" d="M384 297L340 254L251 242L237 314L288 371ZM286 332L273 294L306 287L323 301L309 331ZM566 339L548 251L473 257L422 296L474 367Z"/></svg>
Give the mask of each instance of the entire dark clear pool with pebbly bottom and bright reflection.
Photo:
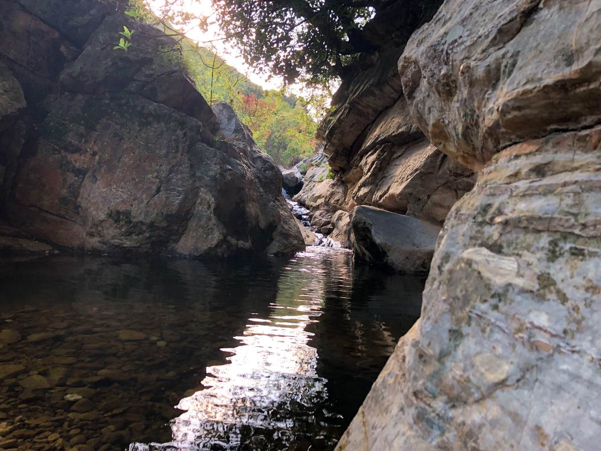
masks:
<svg viewBox="0 0 601 451"><path fill-rule="evenodd" d="M0 448L333 449L423 283L317 247L3 263Z"/></svg>

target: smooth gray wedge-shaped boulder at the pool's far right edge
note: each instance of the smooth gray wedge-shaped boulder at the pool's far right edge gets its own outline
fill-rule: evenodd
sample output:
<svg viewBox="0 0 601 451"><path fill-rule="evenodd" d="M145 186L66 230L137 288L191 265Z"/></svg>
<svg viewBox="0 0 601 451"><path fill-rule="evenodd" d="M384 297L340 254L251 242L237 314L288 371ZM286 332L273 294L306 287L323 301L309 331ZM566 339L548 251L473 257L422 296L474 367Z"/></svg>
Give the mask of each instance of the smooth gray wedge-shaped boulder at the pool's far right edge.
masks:
<svg viewBox="0 0 601 451"><path fill-rule="evenodd" d="M426 274L440 227L375 207L350 212L350 243L360 260L397 271Z"/></svg>

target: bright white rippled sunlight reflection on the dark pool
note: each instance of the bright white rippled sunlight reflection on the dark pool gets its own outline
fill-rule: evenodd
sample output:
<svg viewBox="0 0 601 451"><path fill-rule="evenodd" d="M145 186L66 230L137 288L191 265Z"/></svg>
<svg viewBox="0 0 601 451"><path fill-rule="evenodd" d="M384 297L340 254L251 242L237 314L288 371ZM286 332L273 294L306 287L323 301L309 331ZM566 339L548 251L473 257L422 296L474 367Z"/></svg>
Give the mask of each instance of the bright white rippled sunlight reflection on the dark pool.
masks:
<svg viewBox="0 0 601 451"><path fill-rule="evenodd" d="M173 440L158 449L240 449L251 436L251 449L267 449L262 440L292 445L297 420L305 428L317 421L327 380L317 374L307 326L322 314L326 271L311 251L298 257L304 262L285 268L269 317L249 318L242 336L234 337L239 345L221 349L231 354L228 363L207 367L204 390L179 402L185 413L172 421ZM336 416L320 410L320 416Z"/></svg>

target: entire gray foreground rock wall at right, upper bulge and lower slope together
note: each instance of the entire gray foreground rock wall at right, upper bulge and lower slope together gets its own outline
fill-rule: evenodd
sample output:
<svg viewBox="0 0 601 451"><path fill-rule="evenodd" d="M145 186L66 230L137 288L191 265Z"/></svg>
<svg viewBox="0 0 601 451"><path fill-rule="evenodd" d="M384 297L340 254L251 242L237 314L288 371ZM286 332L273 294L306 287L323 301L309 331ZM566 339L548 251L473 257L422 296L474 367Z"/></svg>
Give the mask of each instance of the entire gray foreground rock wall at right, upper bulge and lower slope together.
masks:
<svg viewBox="0 0 601 451"><path fill-rule="evenodd" d="M599 0L447 0L410 38L410 117L478 181L338 450L599 446L600 24Z"/></svg>

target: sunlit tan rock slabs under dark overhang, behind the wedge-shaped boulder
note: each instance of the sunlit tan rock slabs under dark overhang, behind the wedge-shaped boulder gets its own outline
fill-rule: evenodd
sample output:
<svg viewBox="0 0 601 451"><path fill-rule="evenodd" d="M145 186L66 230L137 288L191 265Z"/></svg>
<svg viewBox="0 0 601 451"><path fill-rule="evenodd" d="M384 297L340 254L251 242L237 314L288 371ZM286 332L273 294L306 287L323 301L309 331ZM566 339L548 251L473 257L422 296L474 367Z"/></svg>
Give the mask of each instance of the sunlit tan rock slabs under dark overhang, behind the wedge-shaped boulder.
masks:
<svg viewBox="0 0 601 451"><path fill-rule="evenodd" d="M308 171L296 200L312 216L369 205L442 224L474 184L471 170L413 126L404 97L382 111L347 153L349 160L334 180L327 179L325 166Z"/></svg>

